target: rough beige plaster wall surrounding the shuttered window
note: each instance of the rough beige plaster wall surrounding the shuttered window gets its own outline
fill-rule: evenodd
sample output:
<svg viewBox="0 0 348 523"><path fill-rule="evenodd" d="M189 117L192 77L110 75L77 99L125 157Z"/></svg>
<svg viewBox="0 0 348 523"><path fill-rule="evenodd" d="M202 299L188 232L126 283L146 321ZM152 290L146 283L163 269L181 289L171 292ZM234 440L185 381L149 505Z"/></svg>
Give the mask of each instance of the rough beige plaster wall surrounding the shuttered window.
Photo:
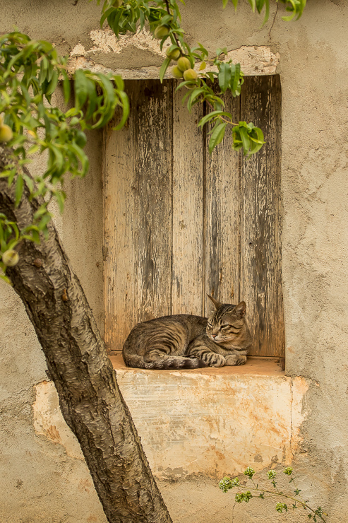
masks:
<svg viewBox="0 0 348 523"><path fill-rule="evenodd" d="M338 523L348 520L348 5L310 0L299 21L284 23L284 6L275 16L272 3L270 20L261 27L246 1L237 13L232 4L224 11L221 4L187 2L182 26L189 42L201 42L211 53L226 46L248 74L281 77L286 371L308 384L293 463L306 498L328 510L328 522ZM72 67L124 71L128 78L158 73L157 42L146 33L116 42L100 30L96 2L0 0L0 12L1 33L16 25L31 37L51 40L71 54ZM102 327L100 134L90 136L88 151L90 173L67 185L66 213L56 223ZM32 170L42 168L40 163ZM51 411L58 406L35 331L5 284L0 284L0 331L1 523L106 522L73 443L62 445L53 423L42 429L44 422L34 419L40 394L51 394L44 396ZM232 496L217 490L210 478L161 481L160 488L178 523L303 521L299 515L278 519L274 509L257 502L234 506Z"/></svg>

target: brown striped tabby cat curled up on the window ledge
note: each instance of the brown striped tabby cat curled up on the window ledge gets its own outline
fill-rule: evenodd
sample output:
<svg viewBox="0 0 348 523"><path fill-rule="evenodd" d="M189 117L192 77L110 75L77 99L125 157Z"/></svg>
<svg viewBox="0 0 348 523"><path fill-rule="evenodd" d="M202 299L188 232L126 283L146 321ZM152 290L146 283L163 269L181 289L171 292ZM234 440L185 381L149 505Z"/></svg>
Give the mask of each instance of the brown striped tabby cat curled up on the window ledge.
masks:
<svg viewBox="0 0 348 523"><path fill-rule="evenodd" d="M140 369L196 369L244 365L251 348L246 304L220 303L207 319L172 315L138 323L124 343L124 362Z"/></svg>

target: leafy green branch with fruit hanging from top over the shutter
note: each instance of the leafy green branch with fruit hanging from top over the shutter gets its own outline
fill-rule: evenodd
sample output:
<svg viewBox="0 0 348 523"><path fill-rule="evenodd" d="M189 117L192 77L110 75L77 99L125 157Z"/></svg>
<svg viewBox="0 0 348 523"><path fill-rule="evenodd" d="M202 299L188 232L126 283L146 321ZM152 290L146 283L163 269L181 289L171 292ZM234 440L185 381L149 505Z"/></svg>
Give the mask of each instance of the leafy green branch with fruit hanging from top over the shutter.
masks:
<svg viewBox="0 0 348 523"><path fill-rule="evenodd" d="M277 0L286 5L286 10L291 14L284 16L283 20L297 19L301 16L306 6L306 0ZM181 0L184 4L184 0ZM261 13L265 8L265 23L269 18L270 0L248 0L252 11ZM222 0L225 8L229 0ZM100 0L98 0L100 4ZM236 9L238 0L232 0ZM205 102L212 109L205 117L200 119L198 127L210 124L209 152L221 143L227 129L232 130L232 148L234 151L242 150L244 155L250 156L257 153L263 146L263 131L253 123L232 121L232 114L224 111L224 101L221 98L227 90L234 97L241 94L241 85L244 75L240 64L233 64L232 60L220 59L227 56L227 49L217 49L216 57L208 59L208 51L203 45L190 47L184 40L184 30L180 27L181 15L175 0L105 0L102 6L101 26L107 20L116 37L128 32L136 33L142 30L145 22L150 25L150 31L160 40L160 49L169 39L171 45L167 48L166 55L160 68L160 81L163 81L167 69L172 61L176 62L171 69L174 78L183 79L177 89L186 88L183 103L187 103L191 111L193 105ZM210 62L215 66L214 71L204 72ZM213 88L217 78L219 90Z"/></svg>

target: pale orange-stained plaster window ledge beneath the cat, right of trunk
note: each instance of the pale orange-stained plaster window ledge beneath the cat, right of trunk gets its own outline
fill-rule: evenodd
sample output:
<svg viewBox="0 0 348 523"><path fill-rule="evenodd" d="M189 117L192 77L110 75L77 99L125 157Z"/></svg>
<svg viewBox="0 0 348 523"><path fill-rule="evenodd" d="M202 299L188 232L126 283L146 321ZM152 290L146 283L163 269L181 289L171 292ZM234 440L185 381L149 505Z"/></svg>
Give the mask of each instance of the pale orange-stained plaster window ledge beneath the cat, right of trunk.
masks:
<svg viewBox="0 0 348 523"><path fill-rule="evenodd" d="M110 359L157 478L222 478L292 462L308 384L285 376L275 358L195 370L133 369L121 356Z"/></svg>

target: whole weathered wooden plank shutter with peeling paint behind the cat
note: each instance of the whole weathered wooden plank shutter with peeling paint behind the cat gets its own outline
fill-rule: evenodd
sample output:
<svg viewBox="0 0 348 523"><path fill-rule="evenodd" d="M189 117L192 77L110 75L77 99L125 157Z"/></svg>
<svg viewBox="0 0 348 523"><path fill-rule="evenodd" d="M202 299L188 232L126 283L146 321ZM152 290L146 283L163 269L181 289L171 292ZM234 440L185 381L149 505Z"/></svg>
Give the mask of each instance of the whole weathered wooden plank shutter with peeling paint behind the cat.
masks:
<svg viewBox="0 0 348 523"><path fill-rule="evenodd" d="M105 133L105 341L121 351L131 328L170 314L208 315L206 293L245 300L253 355L284 355L279 76L247 77L225 97L234 121L265 146L249 160L231 135L208 153L205 114L181 104L175 81L126 81L131 115Z"/></svg>

